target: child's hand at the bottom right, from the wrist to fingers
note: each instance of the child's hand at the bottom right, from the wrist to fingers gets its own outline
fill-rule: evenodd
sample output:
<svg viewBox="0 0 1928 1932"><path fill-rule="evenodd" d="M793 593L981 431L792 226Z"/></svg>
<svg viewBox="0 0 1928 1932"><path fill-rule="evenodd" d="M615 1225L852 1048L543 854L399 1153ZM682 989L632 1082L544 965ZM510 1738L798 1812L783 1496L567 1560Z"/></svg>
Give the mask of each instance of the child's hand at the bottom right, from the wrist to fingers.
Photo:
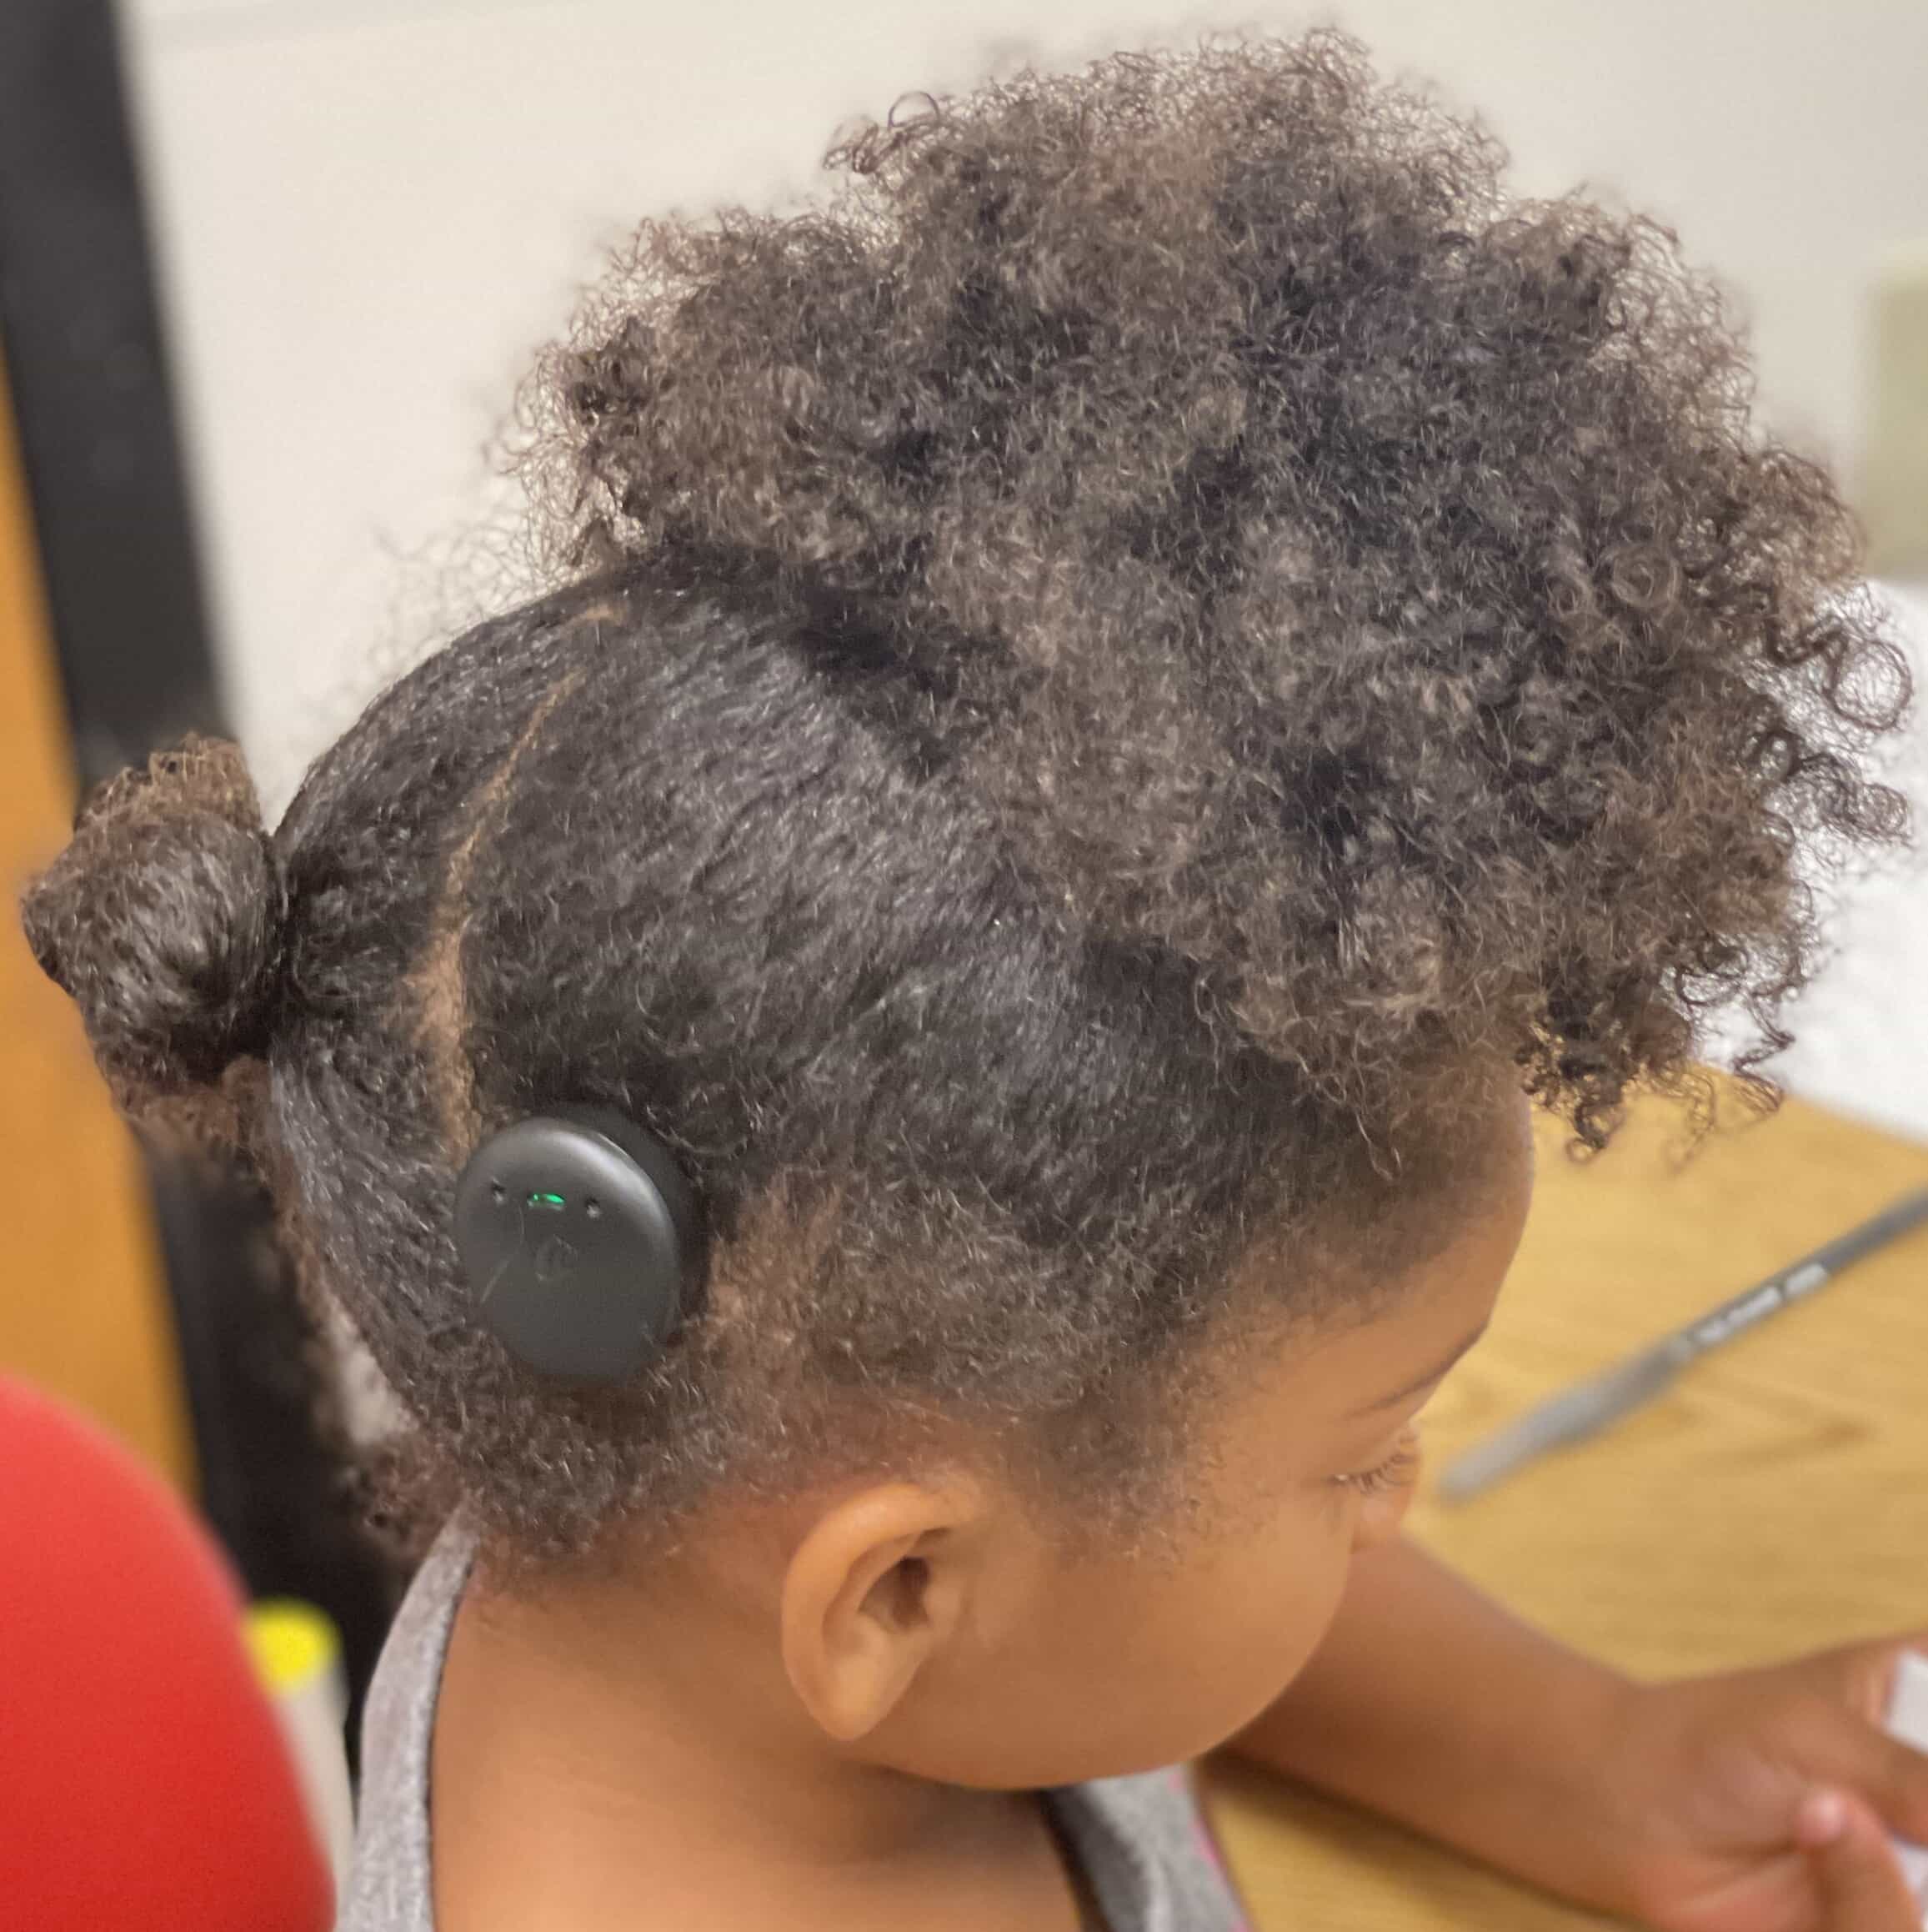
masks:
<svg viewBox="0 0 1928 1932"><path fill-rule="evenodd" d="M1918 1932L1884 1843L1928 1843L1928 1756L1880 1729L1903 1648L1629 1690L1598 1766L1619 1903L1661 1932Z"/></svg>

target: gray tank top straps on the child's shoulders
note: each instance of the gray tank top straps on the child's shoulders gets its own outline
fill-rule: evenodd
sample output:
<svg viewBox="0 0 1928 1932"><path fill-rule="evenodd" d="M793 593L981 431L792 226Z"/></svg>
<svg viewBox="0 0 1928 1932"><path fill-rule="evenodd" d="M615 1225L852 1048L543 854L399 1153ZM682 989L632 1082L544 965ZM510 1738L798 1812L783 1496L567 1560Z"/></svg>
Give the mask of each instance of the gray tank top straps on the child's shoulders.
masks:
<svg viewBox="0 0 1928 1932"><path fill-rule="evenodd" d="M473 1542L446 1528L388 1633L361 1725L355 1861L336 1932L435 1932L429 1741ZM1047 1803L1109 1932L1246 1932L1184 1770L1107 1777Z"/></svg>

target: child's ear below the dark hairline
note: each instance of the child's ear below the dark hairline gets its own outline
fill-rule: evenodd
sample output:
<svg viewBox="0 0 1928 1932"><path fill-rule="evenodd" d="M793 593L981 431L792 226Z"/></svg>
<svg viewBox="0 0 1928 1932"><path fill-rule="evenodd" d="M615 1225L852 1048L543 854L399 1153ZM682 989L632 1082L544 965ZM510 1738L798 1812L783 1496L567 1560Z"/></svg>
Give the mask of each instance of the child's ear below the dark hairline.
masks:
<svg viewBox="0 0 1928 1932"><path fill-rule="evenodd" d="M782 1662L829 1737L877 1729L954 1636L972 1590L972 1484L887 1484L804 1536L782 1580Z"/></svg>

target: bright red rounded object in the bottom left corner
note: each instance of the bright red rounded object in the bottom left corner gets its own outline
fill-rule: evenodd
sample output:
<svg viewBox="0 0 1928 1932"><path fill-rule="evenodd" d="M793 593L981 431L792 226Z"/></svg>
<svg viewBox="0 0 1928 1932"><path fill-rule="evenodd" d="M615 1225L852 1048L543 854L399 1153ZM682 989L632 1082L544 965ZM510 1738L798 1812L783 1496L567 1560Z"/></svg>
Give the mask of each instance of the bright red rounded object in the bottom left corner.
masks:
<svg viewBox="0 0 1928 1932"><path fill-rule="evenodd" d="M23 1932L326 1932L328 1868L174 1493L0 1379L0 1920Z"/></svg>

